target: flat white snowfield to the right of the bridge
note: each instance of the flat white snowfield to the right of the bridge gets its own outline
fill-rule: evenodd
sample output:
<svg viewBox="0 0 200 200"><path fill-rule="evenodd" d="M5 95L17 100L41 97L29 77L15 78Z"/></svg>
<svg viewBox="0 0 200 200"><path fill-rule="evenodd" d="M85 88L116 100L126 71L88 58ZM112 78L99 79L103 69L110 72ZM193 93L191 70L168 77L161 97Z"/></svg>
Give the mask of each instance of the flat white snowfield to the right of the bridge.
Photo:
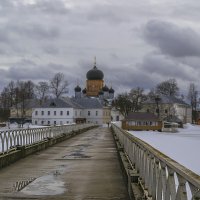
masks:
<svg viewBox="0 0 200 200"><path fill-rule="evenodd" d="M200 175L200 126L186 124L177 133L129 132Z"/></svg>

